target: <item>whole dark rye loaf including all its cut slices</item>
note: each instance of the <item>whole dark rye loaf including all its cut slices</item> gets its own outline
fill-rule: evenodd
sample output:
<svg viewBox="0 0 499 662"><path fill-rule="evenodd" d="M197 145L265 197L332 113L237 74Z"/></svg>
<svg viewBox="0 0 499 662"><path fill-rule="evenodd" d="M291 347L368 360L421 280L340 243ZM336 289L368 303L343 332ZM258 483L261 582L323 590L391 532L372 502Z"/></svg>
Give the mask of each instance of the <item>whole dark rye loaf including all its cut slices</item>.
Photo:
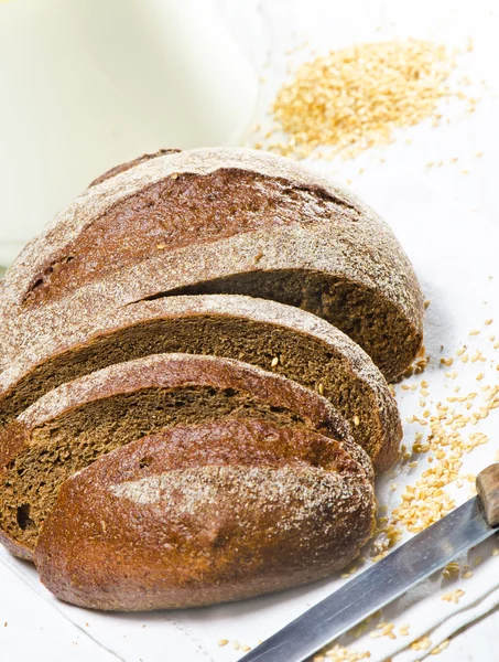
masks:
<svg viewBox="0 0 499 662"><path fill-rule="evenodd" d="M372 535L423 297L347 191L247 149L95 180L0 285L0 542L63 600L210 605ZM375 365L376 364L376 365Z"/></svg>

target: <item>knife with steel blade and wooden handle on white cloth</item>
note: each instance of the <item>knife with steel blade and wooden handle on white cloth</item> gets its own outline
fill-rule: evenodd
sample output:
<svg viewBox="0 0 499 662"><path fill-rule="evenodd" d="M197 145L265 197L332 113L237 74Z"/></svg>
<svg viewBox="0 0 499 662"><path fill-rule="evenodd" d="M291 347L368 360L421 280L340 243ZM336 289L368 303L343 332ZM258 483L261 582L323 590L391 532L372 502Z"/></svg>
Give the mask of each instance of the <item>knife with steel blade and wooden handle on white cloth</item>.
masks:
<svg viewBox="0 0 499 662"><path fill-rule="evenodd" d="M350 579L239 662L304 662L365 618L442 569L499 526L499 463L477 477L478 496Z"/></svg>

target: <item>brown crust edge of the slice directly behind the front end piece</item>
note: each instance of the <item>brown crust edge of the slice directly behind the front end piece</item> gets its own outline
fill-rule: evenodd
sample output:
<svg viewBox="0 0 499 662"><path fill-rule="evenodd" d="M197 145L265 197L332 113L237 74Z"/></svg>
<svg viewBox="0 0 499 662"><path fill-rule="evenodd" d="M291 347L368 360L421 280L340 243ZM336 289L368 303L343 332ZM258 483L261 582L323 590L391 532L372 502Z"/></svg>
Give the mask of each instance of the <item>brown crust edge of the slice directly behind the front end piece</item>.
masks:
<svg viewBox="0 0 499 662"><path fill-rule="evenodd" d="M314 430L338 439L365 469L372 482L372 466L365 451L351 439L349 426L328 401L280 375L256 366L214 356L188 354L151 355L110 365L51 391L26 409L0 436L0 491L9 463L32 445L33 431L87 403L106 401L145 388L210 386L248 393L272 407L295 412ZM3 468L3 470L2 470ZM31 558L32 552L18 544L6 532L0 541L14 554Z"/></svg>

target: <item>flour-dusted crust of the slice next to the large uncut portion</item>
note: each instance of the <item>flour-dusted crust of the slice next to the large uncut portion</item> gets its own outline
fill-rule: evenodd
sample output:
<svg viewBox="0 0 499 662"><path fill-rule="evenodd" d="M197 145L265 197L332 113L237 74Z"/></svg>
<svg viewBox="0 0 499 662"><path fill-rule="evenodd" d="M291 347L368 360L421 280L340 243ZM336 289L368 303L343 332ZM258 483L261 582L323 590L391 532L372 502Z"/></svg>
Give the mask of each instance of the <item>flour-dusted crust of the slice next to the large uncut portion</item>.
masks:
<svg viewBox="0 0 499 662"><path fill-rule="evenodd" d="M67 310L67 318L70 318L70 306ZM356 412L348 423L354 438L364 448L367 446L364 438L366 435L369 435L369 441L376 438L376 447L370 455L377 472L389 469L398 459L402 427L397 403L384 377L369 356L341 331L316 316L275 301L238 295L167 297L154 301L141 301L111 310L98 319L87 319L78 324L68 323L64 329L64 333L55 332L46 339L46 342L33 343L29 355L22 355L18 362L12 363L0 375L0 407L2 403L7 403L9 397L15 395L23 380L26 380L28 375L35 370L40 370L45 362L53 361L53 372L62 374L61 359L57 357L66 355L67 363L70 363L74 361L73 353L82 351L83 348L97 348L101 339L109 338L113 333L118 334L120 331L133 329L134 325L159 322L160 320L172 323L178 320L184 320L185 323L189 320L199 321L198 333L207 334L213 327L215 329L214 333L225 335L230 332L224 332L223 327L218 331L216 330L217 325L220 325L224 321L234 321L235 325L259 324L262 334L265 334L269 339L269 349L272 348L272 342L275 343L275 334L281 333L283 330L290 330L296 335L306 337L316 348L324 348L326 355L334 354L338 357L341 370L348 375L351 383L350 399L355 397L354 391L357 384L365 386L371 393L372 401L367 404L368 408ZM128 333L131 337L130 331ZM229 343L230 339L219 351L224 352L226 350L229 352ZM97 349L95 351L97 352ZM154 353L159 351L172 350L154 345ZM237 349L232 351L237 356ZM311 352L313 351L311 350ZM102 350L102 353L112 360L109 349ZM236 357L234 354L226 355ZM311 354L308 361L319 361L318 355L318 351L315 351L314 354ZM301 381L300 374L290 374L289 357L283 356L278 365L272 366L271 362L274 356L273 353L269 354L267 370ZM251 355L245 354L245 361L251 362ZM102 357L102 365L93 365L90 370L107 365L105 357ZM305 385L317 389L325 381L328 371L337 370L337 362L321 365L317 371L319 375L317 383ZM47 382L45 373L43 373L43 380ZM334 401L334 393L332 389L328 391L327 385L325 391L324 388L322 391L326 397ZM354 421L356 415L360 415L362 419L362 425L359 427Z"/></svg>

